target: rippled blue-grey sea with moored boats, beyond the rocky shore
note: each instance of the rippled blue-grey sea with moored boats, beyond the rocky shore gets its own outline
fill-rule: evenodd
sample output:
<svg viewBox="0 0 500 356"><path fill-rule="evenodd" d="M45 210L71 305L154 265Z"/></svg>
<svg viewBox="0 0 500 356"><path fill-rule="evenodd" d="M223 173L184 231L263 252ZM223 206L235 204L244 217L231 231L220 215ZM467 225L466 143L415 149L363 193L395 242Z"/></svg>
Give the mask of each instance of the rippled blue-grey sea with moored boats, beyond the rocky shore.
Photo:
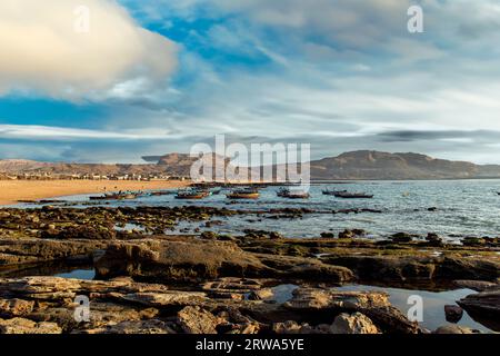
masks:
<svg viewBox="0 0 500 356"><path fill-rule="evenodd" d="M324 188L361 191L374 195L373 199L346 200L322 195ZM243 215L216 218L221 225L204 228L197 224L181 226L184 233L200 227L223 234L242 234L242 230L262 229L279 231L289 237L316 237L321 233L339 233L361 228L372 238L407 231L427 235L437 233L450 240L463 236L499 236L500 231L500 180L436 180L436 181L359 181L342 185L311 187L308 200L278 198L277 187L261 191L259 200L228 201L224 191L199 201L181 201L170 196L141 197L137 200L117 201L108 206L179 206L198 205L264 211L260 216ZM66 197L64 200L86 201L88 196ZM276 208L309 208L301 219L272 219L266 214ZM342 209L374 209L381 214L332 214ZM430 210L429 208L432 208ZM436 208L436 210L433 209ZM178 233L178 231L173 231Z"/></svg>

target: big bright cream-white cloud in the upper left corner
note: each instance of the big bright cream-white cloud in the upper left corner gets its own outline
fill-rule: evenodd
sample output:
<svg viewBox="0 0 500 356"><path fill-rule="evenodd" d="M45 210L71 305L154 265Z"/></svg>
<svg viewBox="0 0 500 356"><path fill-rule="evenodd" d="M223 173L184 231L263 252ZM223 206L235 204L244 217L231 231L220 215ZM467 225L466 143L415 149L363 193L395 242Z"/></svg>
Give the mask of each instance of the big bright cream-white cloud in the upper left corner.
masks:
<svg viewBox="0 0 500 356"><path fill-rule="evenodd" d="M90 10L88 32L74 29L80 6ZM176 67L176 44L112 0L2 0L0 48L0 96L109 97L137 78L149 90Z"/></svg>

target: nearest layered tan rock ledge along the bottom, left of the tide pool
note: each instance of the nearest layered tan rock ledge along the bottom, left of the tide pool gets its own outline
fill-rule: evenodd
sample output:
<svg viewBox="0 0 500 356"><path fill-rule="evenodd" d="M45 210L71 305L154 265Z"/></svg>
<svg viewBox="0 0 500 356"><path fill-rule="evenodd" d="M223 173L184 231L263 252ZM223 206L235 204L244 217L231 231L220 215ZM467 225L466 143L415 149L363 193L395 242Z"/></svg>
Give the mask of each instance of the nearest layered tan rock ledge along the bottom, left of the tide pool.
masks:
<svg viewBox="0 0 500 356"><path fill-rule="evenodd" d="M236 279L213 281L207 287L230 290L234 284L260 290L254 283ZM87 320L76 319L80 305L74 298L81 295L90 300ZM173 290L131 278L98 281L26 277L0 279L0 333L13 334L420 332L390 305L387 295L371 291L300 288L289 303L276 304L209 298L204 291ZM300 327L291 327L293 319L301 323Z"/></svg>

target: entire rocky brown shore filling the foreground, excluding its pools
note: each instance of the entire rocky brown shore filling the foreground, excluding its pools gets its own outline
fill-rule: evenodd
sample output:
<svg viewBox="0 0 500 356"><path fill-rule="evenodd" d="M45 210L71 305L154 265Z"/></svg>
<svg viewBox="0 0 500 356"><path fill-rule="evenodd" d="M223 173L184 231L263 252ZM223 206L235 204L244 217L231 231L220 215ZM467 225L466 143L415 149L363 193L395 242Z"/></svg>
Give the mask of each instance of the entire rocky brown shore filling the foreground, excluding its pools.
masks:
<svg viewBox="0 0 500 356"><path fill-rule="evenodd" d="M288 216L300 211L274 211ZM168 236L183 220L217 224L239 214L211 208L87 208L0 210L0 333L46 334L418 334L472 333L458 326L422 329L384 293L340 291L346 283L456 285L478 290L462 308L499 330L498 238L446 245L439 236L398 234L386 241L363 231L287 239ZM134 224L140 229L119 227ZM93 267L97 280L19 277L33 266ZM48 269L49 270L49 269ZM299 286L288 300L271 287ZM79 314L81 296L89 318Z"/></svg>

